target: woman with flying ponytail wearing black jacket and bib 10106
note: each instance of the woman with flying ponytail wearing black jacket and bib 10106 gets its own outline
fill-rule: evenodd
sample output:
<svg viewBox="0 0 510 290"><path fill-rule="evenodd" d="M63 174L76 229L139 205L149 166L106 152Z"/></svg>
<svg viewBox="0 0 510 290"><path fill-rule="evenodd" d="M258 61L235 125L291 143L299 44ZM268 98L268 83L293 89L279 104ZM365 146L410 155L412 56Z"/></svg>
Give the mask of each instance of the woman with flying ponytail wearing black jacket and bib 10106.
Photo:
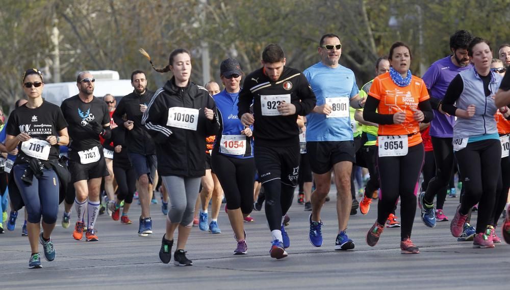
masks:
<svg viewBox="0 0 510 290"><path fill-rule="evenodd" d="M150 61L149 55L140 51ZM170 197L159 256L163 263L170 262L173 233L179 228L174 264L190 266L193 262L184 249L193 225L200 178L206 173L203 154L206 136L216 134L219 128L216 104L204 87L190 81L191 54L187 50L174 50L163 69L155 68L151 61L150 64L158 72L173 73L154 94L142 118L156 143L158 172Z"/></svg>

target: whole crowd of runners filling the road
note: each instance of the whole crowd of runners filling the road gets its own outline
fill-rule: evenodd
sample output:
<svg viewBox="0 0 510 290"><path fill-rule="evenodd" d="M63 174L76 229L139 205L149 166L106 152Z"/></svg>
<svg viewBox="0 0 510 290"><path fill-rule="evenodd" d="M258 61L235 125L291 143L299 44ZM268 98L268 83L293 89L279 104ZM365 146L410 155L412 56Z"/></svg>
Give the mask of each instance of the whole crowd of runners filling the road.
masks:
<svg viewBox="0 0 510 290"><path fill-rule="evenodd" d="M321 208L334 184L335 250L360 243L348 236L349 216L366 215L374 199L371 247L385 228L400 228L401 253L419 253L411 240L417 207L427 227L449 221L453 237L475 248L494 248L500 233L510 244L510 44L493 50L486 39L457 31L451 54L419 78L410 70L410 47L395 42L361 90L354 72L339 64L340 37L325 34L318 44L320 61L302 72L286 66L281 46L269 44L261 68L245 74L227 58L219 67L222 86L205 87L190 80L189 51L172 51L157 68L141 49L154 70L172 77L151 91L145 72L134 70L134 90L118 103L109 94L96 98L94 76L82 71L79 93L58 107L43 99L41 72L27 69L26 98L0 133L0 233L15 230L24 208L29 268L41 268L39 244L47 261L56 258L51 236L59 218L63 228L74 225L70 238L98 241L98 216L132 224L129 210L138 200L138 235L156 227L161 261L186 266L193 264L186 254L192 227L221 233L226 201L234 254L248 253L245 223L264 206L269 254L281 259L291 245L285 226L295 193L311 211L303 225L310 243L321 247ZM444 203L456 198L455 173L462 189L450 219ZM165 227L152 224L150 205L158 199Z"/></svg>

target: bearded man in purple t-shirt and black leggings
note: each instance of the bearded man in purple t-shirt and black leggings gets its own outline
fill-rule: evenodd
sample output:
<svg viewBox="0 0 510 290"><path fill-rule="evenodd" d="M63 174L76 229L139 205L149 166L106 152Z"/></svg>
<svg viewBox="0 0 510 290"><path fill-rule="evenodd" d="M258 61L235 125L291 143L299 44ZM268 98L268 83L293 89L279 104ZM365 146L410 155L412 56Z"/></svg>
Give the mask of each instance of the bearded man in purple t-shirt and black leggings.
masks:
<svg viewBox="0 0 510 290"><path fill-rule="evenodd" d="M451 80L459 72L471 68L467 48L472 39L473 36L465 30L455 32L450 37L452 55L432 63L423 75L423 81L430 91L430 103L435 110L429 135L436 160L436 175L430 180L427 190L420 193L418 199L421 220L431 228L436 226L437 217L448 220L448 217L444 215L443 206L454 166L452 136L455 119L453 115L445 114L442 109L442 100ZM436 195L437 210L433 205ZM466 227L466 230L468 229L469 227Z"/></svg>

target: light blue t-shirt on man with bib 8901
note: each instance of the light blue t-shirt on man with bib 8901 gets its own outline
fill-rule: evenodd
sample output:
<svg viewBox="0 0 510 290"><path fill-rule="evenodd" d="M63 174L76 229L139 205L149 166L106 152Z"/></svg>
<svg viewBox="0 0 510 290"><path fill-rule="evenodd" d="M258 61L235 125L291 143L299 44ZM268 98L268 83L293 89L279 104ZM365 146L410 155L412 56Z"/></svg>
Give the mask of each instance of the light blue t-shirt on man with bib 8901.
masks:
<svg viewBox="0 0 510 290"><path fill-rule="evenodd" d="M318 62L303 71L317 98L317 106L326 98L347 98L347 103L359 93L354 72L345 66L329 67ZM307 141L349 141L353 140L350 116L326 118L326 115L310 113L307 116Z"/></svg>

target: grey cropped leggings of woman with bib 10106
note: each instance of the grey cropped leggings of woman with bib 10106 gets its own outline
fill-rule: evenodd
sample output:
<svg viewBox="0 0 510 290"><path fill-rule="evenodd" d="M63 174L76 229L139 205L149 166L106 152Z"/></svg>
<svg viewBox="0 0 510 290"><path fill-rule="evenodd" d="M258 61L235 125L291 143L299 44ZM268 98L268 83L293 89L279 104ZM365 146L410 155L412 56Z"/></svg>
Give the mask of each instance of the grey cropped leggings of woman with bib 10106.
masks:
<svg viewBox="0 0 510 290"><path fill-rule="evenodd" d="M193 225L193 212L200 188L200 177L162 176L168 197L170 223L179 223L185 227Z"/></svg>

